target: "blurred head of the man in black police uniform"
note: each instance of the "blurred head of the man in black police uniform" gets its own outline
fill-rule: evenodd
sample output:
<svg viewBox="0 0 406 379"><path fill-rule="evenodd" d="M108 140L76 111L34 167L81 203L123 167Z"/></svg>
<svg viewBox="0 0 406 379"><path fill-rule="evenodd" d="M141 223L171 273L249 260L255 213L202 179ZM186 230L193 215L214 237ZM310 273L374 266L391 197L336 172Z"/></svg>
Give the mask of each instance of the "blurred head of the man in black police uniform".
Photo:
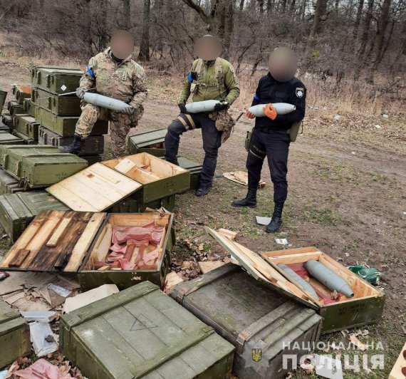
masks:
<svg viewBox="0 0 406 379"><path fill-rule="evenodd" d="M290 48L276 48L269 56L269 72L276 81L290 81L297 69L296 54Z"/></svg>

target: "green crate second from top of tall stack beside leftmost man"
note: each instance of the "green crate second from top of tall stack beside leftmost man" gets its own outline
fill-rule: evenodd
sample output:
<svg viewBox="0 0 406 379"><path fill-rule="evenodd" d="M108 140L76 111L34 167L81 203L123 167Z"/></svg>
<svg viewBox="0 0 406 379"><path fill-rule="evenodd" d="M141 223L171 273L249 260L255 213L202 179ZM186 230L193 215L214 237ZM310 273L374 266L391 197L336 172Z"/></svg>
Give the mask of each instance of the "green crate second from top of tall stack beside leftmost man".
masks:
<svg viewBox="0 0 406 379"><path fill-rule="evenodd" d="M44 108L58 116L78 116L80 110L80 98L78 96L58 96L48 93L39 88L33 88L31 99L38 107Z"/></svg>

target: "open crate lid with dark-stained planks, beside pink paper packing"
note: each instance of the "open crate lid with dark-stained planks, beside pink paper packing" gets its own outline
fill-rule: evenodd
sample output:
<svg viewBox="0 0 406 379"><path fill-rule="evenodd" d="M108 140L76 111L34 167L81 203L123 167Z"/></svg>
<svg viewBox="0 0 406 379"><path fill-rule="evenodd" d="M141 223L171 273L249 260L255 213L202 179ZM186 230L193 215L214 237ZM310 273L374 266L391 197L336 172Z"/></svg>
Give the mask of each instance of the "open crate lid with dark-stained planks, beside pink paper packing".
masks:
<svg viewBox="0 0 406 379"><path fill-rule="evenodd" d="M105 213L45 211L4 256L0 269L76 272Z"/></svg>

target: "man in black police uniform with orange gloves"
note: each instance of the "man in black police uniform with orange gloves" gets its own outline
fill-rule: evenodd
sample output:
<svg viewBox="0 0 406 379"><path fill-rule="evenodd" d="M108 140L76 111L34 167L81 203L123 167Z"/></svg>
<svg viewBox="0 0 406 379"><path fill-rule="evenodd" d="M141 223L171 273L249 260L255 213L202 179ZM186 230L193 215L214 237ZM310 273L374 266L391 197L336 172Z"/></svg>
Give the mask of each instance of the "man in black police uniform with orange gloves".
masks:
<svg viewBox="0 0 406 379"><path fill-rule="evenodd" d="M257 117L251 136L246 168L248 169L248 194L232 202L233 207L256 207L256 190L261 179L264 159L268 157L271 180L274 183L274 214L266 232L277 232L282 225L283 204L288 195L288 130L293 123L303 120L306 107L306 88L294 75L297 58L290 48L276 48L269 57L269 73L259 81L252 105L266 104L265 116ZM278 115L271 103L289 103L296 110ZM247 112L248 118L255 118Z"/></svg>

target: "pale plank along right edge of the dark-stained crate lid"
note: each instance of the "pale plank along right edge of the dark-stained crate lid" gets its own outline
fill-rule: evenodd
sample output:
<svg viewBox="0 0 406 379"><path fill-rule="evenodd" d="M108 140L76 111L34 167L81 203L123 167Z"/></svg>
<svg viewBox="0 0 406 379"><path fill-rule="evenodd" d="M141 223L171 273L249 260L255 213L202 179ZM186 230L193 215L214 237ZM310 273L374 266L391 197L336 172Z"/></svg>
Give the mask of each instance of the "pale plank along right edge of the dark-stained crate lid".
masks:
<svg viewBox="0 0 406 379"><path fill-rule="evenodd" d="M105 216L105 213L93 214L90 221L88 222L88 225L86 226L78 242L73 248L71 258L69 259L68 264L65 266L65 269L63 269L63 271L78 271L83 257L88 252L90 244L93 242L93 239L98 232L100 225L103 223Z"/></svg>

